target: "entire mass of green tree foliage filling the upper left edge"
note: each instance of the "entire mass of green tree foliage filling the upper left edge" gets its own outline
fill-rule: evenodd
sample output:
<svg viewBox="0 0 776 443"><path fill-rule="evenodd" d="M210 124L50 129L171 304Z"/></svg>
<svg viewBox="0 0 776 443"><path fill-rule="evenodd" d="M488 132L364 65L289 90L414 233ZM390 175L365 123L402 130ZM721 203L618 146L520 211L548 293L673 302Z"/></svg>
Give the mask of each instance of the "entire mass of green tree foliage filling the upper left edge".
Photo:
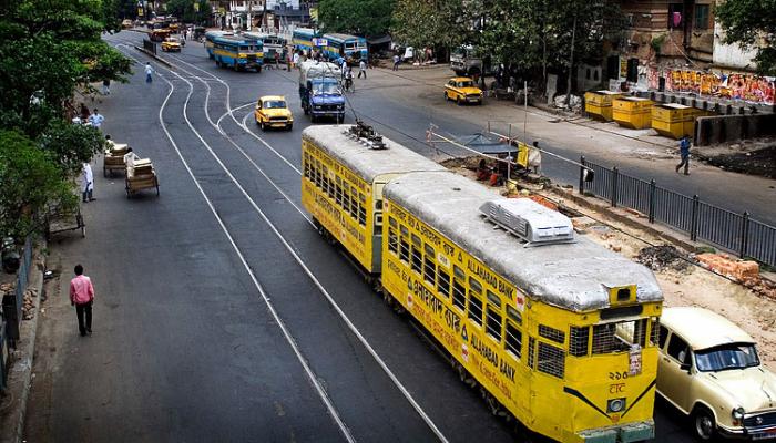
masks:
<svg viewBox="0 0 776 443"><path fill-rule="evenodd" d="M71 179L104 140L65 122L65 103L76 89L89 93L90 83L131 72L101 39L119 24L118 2L21 0L0 9L0 235L23 236L52 207L74 207Z"/></svg>

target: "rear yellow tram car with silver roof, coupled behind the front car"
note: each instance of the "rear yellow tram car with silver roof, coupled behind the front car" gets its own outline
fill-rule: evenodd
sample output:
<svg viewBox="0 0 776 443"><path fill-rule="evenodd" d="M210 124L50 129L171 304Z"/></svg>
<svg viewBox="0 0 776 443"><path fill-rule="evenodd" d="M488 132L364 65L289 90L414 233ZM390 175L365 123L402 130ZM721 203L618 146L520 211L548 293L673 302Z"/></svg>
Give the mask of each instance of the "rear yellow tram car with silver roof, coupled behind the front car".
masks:
<svg viewBox="0 0 776 443"><path fill-rule="evenodd" d="M371 148L348 135L350 125L308 126L302 133L302 204L318 229L334 237L368 274L380 272L382 187L440 164L382 138Z"/></svg>

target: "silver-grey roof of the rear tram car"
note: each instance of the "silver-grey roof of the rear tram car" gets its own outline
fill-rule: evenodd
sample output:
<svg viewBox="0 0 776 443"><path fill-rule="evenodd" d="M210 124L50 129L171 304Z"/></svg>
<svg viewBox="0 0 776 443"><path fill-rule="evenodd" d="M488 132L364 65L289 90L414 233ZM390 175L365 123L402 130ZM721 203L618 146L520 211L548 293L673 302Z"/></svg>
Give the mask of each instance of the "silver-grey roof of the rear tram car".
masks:
<svg viewBox="0 0 776 443"><path fill-rule="evenodd" d="M371 183L380 175L416 171L447 171L445 166L382 137L385 150L371 150L343 132L350 125L308 126L303 137L313 141L326 153Z"/></svg>

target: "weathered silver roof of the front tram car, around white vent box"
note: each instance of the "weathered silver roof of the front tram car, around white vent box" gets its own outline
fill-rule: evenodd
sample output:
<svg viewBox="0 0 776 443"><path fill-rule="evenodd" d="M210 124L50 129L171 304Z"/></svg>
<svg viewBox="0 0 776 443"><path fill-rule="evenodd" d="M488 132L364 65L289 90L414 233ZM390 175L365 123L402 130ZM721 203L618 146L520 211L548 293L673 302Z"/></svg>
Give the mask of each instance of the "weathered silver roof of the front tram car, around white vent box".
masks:
<svg viewBox="0 0 776 443"><path fill-rule="evenodd" d="M663 299L650 269L584 237L578 236L575 243L524 247L518 237L486 220L479 210L484 202L506 197L452 172L397 177L388 183L384 195L531 298L589 311L610 306L607 287L636 285L640 302Z"/></svg>

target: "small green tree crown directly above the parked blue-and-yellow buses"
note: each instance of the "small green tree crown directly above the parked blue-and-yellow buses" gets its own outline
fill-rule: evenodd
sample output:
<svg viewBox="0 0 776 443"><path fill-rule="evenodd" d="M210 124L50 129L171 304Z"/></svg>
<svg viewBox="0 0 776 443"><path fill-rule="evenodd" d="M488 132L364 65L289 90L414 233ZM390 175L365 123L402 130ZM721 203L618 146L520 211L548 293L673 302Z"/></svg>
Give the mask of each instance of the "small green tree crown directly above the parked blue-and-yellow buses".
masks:
<svg viewBox="0 0 776 443"><path fill-rule="evenodd" d="M364 37L388 33L395 0L320 0L318 21L324 32Z"/></svg>

